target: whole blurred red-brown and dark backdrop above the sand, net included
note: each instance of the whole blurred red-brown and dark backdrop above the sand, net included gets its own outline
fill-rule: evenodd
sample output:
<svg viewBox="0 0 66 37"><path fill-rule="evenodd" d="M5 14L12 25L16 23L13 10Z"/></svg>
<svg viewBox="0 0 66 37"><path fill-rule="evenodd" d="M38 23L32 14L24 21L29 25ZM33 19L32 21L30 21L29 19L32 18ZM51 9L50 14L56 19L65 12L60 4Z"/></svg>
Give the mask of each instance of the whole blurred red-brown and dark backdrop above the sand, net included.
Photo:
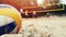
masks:
<svg viewBox="0 0 66 37"><path fill-rule="evenodd" d="M13 5L23 17L66 14L66 0L0 0L0 3Z"/></svg>

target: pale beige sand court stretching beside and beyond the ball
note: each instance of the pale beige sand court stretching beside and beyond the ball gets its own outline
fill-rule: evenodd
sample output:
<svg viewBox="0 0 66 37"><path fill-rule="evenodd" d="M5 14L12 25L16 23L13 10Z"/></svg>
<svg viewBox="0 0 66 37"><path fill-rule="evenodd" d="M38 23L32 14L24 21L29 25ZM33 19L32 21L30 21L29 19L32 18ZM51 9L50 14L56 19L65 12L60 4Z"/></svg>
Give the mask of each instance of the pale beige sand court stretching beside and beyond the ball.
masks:
<svg viewBox="0 0 66 37"><path fill-rule="evenodd" d="M66 16L22 18L22 22L20 37L66 37Z"/></svg>

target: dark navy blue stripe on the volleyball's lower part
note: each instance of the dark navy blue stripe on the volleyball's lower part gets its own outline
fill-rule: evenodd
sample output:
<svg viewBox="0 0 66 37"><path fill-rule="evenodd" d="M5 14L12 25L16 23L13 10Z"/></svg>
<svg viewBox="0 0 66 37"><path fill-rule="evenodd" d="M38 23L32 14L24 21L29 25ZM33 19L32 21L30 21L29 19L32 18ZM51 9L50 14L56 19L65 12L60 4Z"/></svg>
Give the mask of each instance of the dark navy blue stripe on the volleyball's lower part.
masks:
<svg viewBox="0 0 66 37"><path fill-rule="evenodd" d="M9 34L9 33L11 33L15 27L16 27L15 22L12 22L12 23L7 24L7 25L3 25L3 26L0 26L0 35Z"/></svg>

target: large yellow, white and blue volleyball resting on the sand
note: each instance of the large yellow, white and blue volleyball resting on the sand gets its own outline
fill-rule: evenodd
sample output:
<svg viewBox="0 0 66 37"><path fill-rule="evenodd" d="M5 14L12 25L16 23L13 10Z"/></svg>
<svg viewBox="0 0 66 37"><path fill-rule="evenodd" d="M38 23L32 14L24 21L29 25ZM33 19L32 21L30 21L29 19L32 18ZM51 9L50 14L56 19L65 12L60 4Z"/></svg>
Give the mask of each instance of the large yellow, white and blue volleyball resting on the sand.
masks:
<svg viewBox="0 0 66 37"><path fill-rule="evenodd" d="M16 34L21 25L22 17L19 11L9 4L0 4L0 35Z"/></svg>

